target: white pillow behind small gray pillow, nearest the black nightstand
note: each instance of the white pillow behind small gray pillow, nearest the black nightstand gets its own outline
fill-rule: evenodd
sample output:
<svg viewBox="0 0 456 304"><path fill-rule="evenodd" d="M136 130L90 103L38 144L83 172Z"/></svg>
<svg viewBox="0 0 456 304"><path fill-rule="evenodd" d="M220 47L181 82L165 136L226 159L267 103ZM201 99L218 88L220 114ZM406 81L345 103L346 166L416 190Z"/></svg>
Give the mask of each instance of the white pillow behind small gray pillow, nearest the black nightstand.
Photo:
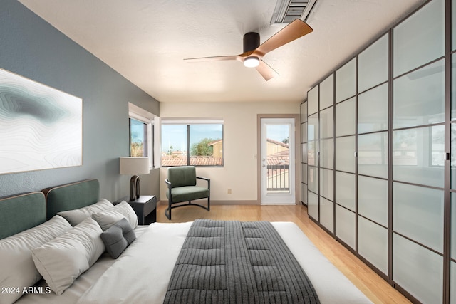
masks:
<svg viewBox="0 0 456 304"><path fill-rule="evenodd" d="M133 229L138 226L138 216L136 216L135 211L126 201L120 202L120 204L113 206L113 208L92 214L92 218L98 222L103 231L123 218L127 219Z"/></svg>

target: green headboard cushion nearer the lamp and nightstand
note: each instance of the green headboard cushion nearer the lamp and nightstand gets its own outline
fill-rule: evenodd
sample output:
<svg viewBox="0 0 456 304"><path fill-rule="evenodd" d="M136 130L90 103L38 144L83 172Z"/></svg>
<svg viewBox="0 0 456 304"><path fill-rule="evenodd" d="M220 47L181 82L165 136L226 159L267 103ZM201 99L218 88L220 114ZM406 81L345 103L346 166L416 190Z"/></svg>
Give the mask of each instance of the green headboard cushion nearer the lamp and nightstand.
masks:
<svg viewBox="0 0 456 304"><path fill-rule="evenodd" d="M46 219L51 219L59 211L95 204L100 200L100 183L98 179L86 179L43 189L43 193L46 195Z"/></svg>

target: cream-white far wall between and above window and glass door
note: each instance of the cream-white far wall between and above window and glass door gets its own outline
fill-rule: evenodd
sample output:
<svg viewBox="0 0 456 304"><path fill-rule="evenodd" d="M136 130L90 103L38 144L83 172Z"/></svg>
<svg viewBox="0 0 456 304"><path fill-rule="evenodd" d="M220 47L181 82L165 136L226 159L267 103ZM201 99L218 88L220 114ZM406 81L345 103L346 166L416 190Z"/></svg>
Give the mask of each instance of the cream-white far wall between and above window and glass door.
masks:
<svg viewBox="0 0 456 304"><path fill-rule="evenodd" d="M211 179L211 201L257 202L257 115L299 114L297 103L160 103L160 117L224 120L224 166L197 167ZM160 172L160 196L166 200L167 168ZM232 194L227 194L227 189Z"/></svg>

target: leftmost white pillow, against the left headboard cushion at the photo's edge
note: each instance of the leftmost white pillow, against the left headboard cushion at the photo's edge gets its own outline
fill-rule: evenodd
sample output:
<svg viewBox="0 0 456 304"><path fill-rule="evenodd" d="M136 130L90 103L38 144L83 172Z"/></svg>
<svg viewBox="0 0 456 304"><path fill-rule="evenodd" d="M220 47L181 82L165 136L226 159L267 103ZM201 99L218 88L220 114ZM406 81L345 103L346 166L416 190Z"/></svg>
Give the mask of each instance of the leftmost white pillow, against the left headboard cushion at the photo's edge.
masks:
<svg viewBox="0 0 456 304"><path fill-rule="evenodd" d="M0 240L0 286L19 288L19 293L2 294L1 303L13 303L21 297L24 288L41 280L31 258L32 248L71 228L68 221L56 215L41 225Z"/></svg>

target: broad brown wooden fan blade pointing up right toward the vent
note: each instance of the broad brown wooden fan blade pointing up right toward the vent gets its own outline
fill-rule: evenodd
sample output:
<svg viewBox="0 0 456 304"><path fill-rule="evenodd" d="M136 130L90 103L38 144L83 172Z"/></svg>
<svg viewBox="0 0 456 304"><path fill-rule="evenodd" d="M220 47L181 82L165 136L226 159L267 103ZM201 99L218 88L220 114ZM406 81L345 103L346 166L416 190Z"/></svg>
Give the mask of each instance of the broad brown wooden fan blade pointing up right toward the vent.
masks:
<svg viewBox="0 0 456 304"><path fill-rule="evenodd" d="M295 19L274 36L264 41L264 43L252 53L252 56L257 56L261 59L266 53L269 53L286 43L294 41L297 38L307 35L308 33L311 33L311 31L314 30L307 23L301 19Z"/></svg>

